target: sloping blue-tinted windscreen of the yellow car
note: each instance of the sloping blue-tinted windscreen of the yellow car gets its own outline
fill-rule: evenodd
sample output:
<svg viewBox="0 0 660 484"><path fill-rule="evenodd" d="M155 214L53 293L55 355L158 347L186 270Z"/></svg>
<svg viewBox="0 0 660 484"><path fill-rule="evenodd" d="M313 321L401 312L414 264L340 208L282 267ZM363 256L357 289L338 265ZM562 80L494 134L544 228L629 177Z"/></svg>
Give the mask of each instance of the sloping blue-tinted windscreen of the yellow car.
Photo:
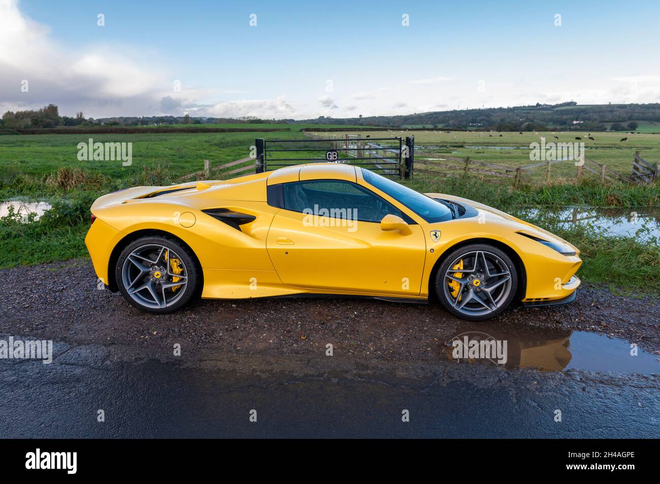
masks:
<svg viewBox="0 0 660 484"><path fill-rule="evenodd" d="M364 168L362 168L362 176L364 177L364 181L380 191L387 193L387 195L397 200L397 202L404 204L429 224L445 222L453 218L449 208L438 203L433 198L426 197L426 195L422 195L413 189L401 185L401 183L397 183Z"/></svg>

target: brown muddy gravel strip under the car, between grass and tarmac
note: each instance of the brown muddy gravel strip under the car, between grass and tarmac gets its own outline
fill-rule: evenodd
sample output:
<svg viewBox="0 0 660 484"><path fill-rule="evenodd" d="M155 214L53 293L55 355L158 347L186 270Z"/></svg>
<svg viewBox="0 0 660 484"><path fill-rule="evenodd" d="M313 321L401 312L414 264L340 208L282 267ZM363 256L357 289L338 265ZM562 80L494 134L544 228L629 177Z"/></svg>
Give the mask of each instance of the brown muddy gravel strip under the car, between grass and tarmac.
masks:
<svg viewBox="0 0 660 484"><path fill-rule="evenodd" d="M331 343L335 353L362 361L433 361L446 355L455 334L475 329L535 337L585 330L660 350L657 297L617 296L595 286L581 287L568 305L514 307L494 320L468 324L434 303L339 298L204 300L178 313L149 315L119 293L96 289L88 260L1 270L0 278L0 333L118 345L156 358L171 355L175 343L198 359L304 357L323 354Z"/></svg>

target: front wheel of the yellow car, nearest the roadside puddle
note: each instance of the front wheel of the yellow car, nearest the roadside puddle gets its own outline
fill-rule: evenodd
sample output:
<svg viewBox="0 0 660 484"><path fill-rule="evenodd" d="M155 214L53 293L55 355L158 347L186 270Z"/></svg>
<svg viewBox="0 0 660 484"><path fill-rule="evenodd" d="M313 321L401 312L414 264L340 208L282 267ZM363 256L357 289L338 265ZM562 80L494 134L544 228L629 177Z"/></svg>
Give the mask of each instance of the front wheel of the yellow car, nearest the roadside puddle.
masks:
<svg viewBox="0 0 660 484"><path fill-rule="evenodd" d="M518 285L515 264L488 244L452 251L436 273L440 303L459 318L480 321L496 317L510 305Z"/></svg>

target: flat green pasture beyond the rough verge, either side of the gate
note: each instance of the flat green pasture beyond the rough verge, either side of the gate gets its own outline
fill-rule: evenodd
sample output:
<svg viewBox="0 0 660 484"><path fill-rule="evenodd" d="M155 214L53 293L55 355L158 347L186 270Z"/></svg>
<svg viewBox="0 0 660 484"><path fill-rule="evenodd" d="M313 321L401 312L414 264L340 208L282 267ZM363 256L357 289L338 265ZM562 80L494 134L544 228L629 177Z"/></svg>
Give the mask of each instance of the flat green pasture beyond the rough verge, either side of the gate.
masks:
<svg viewBox="0 0 660 484"><path fill-rule="evenodd" d="M193 125L201 126L201 125ZM222 125L229 126L229 125ZM262 125L234 125L235 127L255 127ZM277 127L280 125L263 125ZM300 129L303 125L294 126ZM311 127L306 125L307 127ZM5 135L0 136L0 179L6 179L18 174L34 177L48 175L59 167L81 167L88 171L102 173L114 178L135 177L137 171L144 167L166 167L172 177L199 171L205 158L211 160L211 166L217 166L245 158L249 155L249 146L255 138L298 139L304 135L298 131L290 132L260 132L249 133L145 133L139 134L97 134L97 135ZM321 133L323 134L323 133ZM344 133L329 133L343 136ZM357 133L350 133L357 134ZM540 137L546 136L548 142L575 142L576 136L585 142L587 158L605 164L622 175L630 174L632 156L636 150L642 152L642 157L655 164L660 162L660 135L640 134L627 135L622 133L591 133L593 141L587 139L589 133L465 133L438 131L372 131L360 133L363 138L407 136L415 137L416 159L422 161L424 153L439 154L473 160L504 164L507 166L524 166L531 164L529 145L540 142ZM500 137L500 135L502 135ZM555 140L553 136L558 136ZM628 142L620 139L628 137ZM123 167L121 162L90 162L77 159L79 142L132 142L133 164ZM531 177L541 173L543 169ZM572 162L560 162L552 166L553 177L572 178L576 168Z"/></svg>

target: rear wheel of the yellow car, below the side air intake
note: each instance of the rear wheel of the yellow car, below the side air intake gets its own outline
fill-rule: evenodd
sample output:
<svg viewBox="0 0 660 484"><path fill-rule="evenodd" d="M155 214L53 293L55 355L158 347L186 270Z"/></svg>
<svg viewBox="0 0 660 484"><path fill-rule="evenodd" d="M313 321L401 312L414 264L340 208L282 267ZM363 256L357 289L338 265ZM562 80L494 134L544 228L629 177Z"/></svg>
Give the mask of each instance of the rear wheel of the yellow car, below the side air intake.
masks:
<svg viewBox="0 0 660 484"><path fill-rule="evenodd" d="M194 255L169 237L142 237L117 260L119 291L131 305L148 313L171 313L197 293Z"/></svg>

